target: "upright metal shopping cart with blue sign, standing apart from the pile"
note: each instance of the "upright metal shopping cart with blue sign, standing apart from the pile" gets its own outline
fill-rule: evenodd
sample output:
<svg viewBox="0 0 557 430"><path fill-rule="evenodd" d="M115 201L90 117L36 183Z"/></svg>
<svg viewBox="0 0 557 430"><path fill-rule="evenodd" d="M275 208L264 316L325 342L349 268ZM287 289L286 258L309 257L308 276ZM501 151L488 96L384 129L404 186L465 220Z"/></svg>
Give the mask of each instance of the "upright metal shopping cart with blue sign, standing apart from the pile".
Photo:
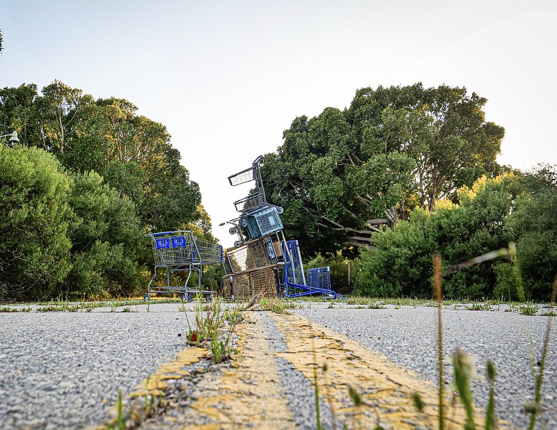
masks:
<svg viewBox="0 0 557 430"><path fill-rule="evenodd" d="M143 298L148 301L152 293L180 294L183 301L192 301L195 295L204 294L207 301L212 299L214 291L201 289L203 266L208 264L222 264L223 248L212 242L198 239L187 230L175 232L159 232L146 234L152 241L152 252L155 257L155 274L147 286L147 294ZM157 277L158 269L166 271L166 287L151 289L153 280ZM183 286L172 286L171 272L187 272ZM188 287L191 273L198 273L197 289Z"/></svg>

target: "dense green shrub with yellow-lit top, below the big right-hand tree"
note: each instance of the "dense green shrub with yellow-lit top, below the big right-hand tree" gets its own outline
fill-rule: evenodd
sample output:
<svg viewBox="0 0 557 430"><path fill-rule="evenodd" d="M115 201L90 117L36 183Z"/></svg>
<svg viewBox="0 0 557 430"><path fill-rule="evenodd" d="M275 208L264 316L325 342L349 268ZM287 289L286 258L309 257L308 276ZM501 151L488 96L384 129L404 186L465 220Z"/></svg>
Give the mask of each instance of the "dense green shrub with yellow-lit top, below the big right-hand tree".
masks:
<svg viewBox="0 0 557 430"><path fill-rule="evenodd" d="M431 296L432 257L444 262L444 296L482 298L496 285L494 262L458 271L451 266L506 248L515 235L505 225L515 199L514 175L480 178L458 191L459 205L438 202L434 212L416 209L409 221L374 235L376 250L363 250L354 292L370 296Z"/></svg>

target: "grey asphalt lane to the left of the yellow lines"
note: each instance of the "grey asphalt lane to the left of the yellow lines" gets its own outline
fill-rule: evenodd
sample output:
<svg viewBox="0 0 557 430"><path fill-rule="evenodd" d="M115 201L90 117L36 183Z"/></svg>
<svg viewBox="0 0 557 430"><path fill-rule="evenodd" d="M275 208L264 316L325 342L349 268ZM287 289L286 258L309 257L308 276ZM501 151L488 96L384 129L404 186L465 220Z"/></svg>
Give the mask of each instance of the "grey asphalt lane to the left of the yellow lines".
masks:
<svg viewBox="0 0 557 430"><path fill-rule="evenodd" d="M178 304L128 308L1 313L0 429L102 424L118 388L130 392L185 348Z"/></svg>

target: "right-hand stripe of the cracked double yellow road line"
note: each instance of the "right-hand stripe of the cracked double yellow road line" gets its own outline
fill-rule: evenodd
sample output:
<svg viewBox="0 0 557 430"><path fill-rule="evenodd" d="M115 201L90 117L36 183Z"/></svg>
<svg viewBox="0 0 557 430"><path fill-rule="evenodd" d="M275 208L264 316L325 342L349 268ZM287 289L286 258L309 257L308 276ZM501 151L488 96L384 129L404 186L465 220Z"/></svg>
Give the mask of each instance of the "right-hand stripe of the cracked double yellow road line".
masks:
<svg viewBox="0 0 557 430"><path fill-rule="evenodd" d="M278 353L306 378L314 380L315 363L320 366L317 385L331 404L338 428L385 429L437 428L437 388L405 367L358 342L297 315L271 314L285 336L288 351ZM324 371L322 367L326 365ZM354 406L349 387L362 396L364 406ZM419 392L425 411L414 408L411 395ZM460 406L447 401L448 422L462 429L466 418Z"/></svg>

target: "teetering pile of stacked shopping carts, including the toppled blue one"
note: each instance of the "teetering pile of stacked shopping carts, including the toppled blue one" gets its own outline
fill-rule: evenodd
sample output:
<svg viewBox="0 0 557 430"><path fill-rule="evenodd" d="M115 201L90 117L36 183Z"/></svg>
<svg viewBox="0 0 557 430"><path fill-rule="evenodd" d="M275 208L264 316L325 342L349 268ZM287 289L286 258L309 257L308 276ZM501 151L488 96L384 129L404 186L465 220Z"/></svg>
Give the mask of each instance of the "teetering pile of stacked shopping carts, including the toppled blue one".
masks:
<svg viewBox="0 0 557 430"><path fill-rule="evenodd" d="M228 177L232 186L253 182L253 188L246 197L234 202L239 216L228 221L232 225L230 234L237 234L238 240L234 248L224 252L223 296L249 300L265 292L267 296L322 294L336 298L337 294L331 290L329 267L308 271L311 285L306 285L298 243L287 242L283 234L280 216L283 208L267 202L261 158L253 161L250 168Z"/></svg>

